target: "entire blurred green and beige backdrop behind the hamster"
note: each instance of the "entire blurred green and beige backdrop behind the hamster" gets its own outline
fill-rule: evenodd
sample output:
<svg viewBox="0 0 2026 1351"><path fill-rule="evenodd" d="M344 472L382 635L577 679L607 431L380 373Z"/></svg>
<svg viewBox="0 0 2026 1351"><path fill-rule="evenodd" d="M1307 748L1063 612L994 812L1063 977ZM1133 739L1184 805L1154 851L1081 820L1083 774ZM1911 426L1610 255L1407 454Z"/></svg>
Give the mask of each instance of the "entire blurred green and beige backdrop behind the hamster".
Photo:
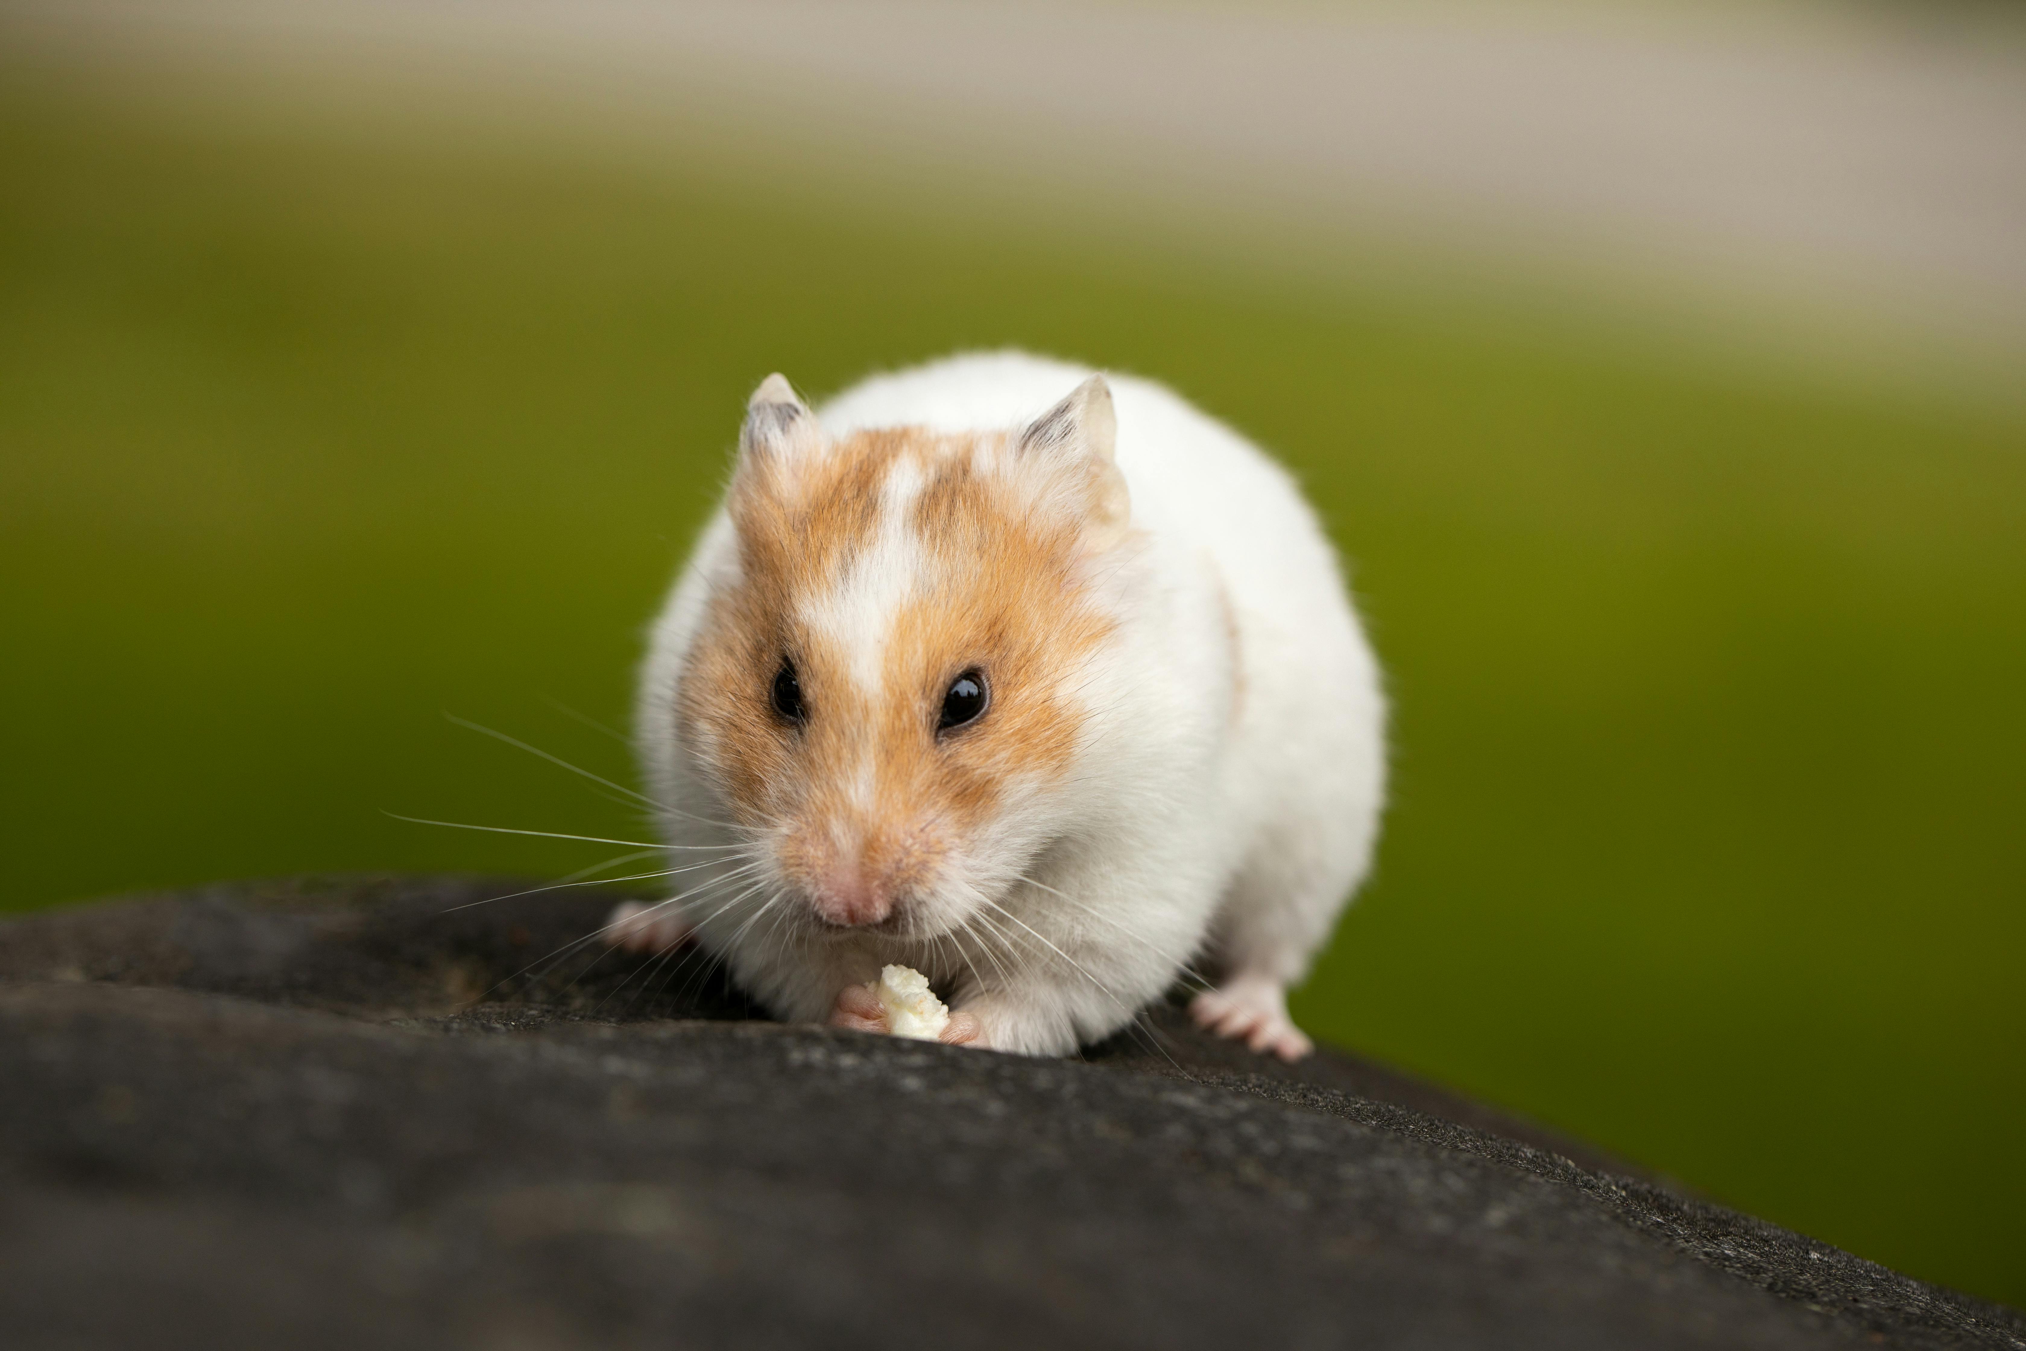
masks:
<svg viewBox="0 0 2026 1351"><path fill-rule="evenodd" d="M596 863L381 808L634 839L442 713L624 780L758 379L1023 344L1349 559L1307 1027L2026 1300L2014 49L1773 8L0 8L0 905Z"/></svg>

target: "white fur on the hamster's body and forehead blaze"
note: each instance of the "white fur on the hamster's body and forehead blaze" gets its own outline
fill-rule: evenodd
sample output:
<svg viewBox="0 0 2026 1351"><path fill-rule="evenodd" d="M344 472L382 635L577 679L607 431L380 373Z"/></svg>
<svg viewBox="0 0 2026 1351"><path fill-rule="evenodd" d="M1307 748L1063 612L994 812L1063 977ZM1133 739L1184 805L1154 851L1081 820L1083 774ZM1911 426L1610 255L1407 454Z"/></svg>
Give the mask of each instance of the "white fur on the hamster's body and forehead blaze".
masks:
<svg viewBox="0 0 2026 1351"><path fill-rule="evenodd" d="M1015 429L1088 375L1017 352L954 356L869 379L819 421L833 435ZM1291 476L1161 385L1112 377L1110 389L1133 543L1092 585L1118 626L1074 672L1086 707L1074 770L1005 784L997 818L952 865L948 918L985 916L962 944L814 942L778 911L754 918L770 895L768 841L709 824L729 820L711 747L679 743L673 717L707 600L737 575L723 512L677 581L642 672L640 751L673 845L748 843L758 859L739 881L719 883L729 865L699 871L685 905L778 1015L821 1019L845 984L898 962L950 988L983 1043L1066 1053L1122 1027L1207 954L1230 982L1226 1003L1199 1017L1299 1053L1293 1025L1280 1039L1250 1029L1272 1023L1268 1005L1284 1023L1278 992L1305 974L1370 867L1386 778L1378 664ZM893 504L912 484L887 492ZM891 608L924 583L928 561L902 521L891 510L879 545L804 616L855 644L861 679L877 679ZM964 899L975 893L997 909ZM1228 1013L1232 1001L1256 1019Z"/></svg>

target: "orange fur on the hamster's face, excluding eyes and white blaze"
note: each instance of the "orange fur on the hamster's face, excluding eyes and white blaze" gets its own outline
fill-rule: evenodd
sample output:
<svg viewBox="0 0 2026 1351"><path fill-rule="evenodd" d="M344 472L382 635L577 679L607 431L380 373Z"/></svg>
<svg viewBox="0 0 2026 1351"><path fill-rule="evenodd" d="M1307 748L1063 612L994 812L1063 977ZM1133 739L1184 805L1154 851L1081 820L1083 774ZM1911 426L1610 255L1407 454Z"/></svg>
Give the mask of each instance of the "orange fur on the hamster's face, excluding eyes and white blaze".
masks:
<svg viewBox="0 0 2026 1351"><path fill-rule="evenodd" d="M1070 766L1082 717L1068 687L1112 628L1080 583L1084 523L1060 506L1088 474L1064 494L1060 468L1009 456L1001 435L902 427L739 468L742 577L711 600L677 715L739 818L788 826L782 863L804 885L837 867L887 891L928 883L1003 784ZM802 616L879 547L883 490L904 468L920 484L906 514L920 579L883 616L879 689L865 691L851 674L859 638L841 644ZM784 658L808 711L800 727L772 711ZM944 691L972 666L991 705L938 735Z"/></svg>

